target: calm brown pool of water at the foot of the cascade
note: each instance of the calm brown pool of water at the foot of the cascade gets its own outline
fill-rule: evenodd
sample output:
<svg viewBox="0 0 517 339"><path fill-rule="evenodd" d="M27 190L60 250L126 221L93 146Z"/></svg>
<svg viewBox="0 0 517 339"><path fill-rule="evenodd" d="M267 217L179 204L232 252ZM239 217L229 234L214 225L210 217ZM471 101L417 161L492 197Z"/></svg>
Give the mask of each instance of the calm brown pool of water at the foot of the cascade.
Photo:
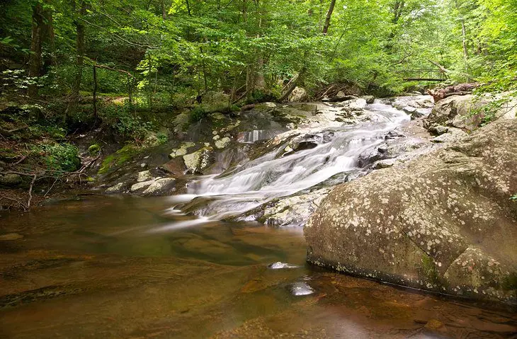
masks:
<svg viewBox="0 0 517 339"><path fill-rule="evenodd" d="M300 229L178 228L169 205L91 196L1 215L0 338L517 338L509 306L315 270ZM314 293L292 295L297 282Z"/></svg>

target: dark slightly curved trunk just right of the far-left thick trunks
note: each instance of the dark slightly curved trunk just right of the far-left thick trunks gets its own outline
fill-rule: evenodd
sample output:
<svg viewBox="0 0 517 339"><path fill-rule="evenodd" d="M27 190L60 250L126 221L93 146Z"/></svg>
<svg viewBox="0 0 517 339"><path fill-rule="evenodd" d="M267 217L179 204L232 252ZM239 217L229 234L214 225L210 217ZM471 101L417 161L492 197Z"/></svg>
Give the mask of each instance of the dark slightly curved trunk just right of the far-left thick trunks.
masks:
<svg viewBox="0 0 517 339"><path fill-rule="evenodd" d="M81 7L79 8L79 17L86 15L86 1L81 0ZM76 21L76 70L74 84L72 85L72 97L70 98L67 107L67 117L76 113L79 105L79 90L83 79L83 64L84 64L84 23L80 20Z"/></svg>

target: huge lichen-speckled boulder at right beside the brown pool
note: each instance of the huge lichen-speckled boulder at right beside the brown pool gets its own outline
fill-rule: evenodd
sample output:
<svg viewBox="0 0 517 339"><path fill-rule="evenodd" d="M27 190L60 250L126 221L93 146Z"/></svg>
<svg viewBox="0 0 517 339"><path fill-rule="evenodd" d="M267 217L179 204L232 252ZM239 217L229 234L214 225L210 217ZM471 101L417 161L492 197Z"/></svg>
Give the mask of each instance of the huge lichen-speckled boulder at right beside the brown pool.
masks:
<svg viewBox="0 0 517 339"><path fill-rule="evenodd" d="M329 193L307 260L351 275L517 301L517 120L498 120Z"/></svg>

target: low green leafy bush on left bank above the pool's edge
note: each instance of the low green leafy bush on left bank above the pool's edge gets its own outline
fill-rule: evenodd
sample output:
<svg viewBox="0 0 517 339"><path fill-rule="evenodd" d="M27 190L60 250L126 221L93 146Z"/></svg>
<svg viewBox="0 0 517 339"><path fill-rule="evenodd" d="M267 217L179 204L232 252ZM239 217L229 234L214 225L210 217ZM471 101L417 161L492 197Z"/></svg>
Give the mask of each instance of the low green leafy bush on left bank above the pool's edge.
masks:
<svg viewBox="0 0 517 339"><path fill-rule="evenodd" d="M81 166L79 150L72 144L40 144L35 151L49 170L73 172Z"/></svg>

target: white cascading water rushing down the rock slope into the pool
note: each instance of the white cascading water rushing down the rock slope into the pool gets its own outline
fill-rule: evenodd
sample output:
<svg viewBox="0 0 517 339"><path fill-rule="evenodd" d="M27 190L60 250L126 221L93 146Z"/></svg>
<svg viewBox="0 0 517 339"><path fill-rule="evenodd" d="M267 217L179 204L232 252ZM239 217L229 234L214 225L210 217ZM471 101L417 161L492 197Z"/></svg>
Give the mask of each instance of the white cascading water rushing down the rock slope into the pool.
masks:
<svg viewBox="0 0 517 339"><path fill-rule="evenodd" d="M338 173L360 171L358 156L381 144L387 132L409 120L403 111L379 101L368 105L367 113L373 115L370 122L309 131L333 132L330 142L278 157L279 151L285 148L285 144L280 144L274 151L231 173L200 178L189 186L188 195L171 199L181 204L204 198L198 214L205 216L205 220L220 220L247 212L273 198L306 190ZM249 139L256 137L258 135L251 135ZM171 213L176 211L174 208Z"/></svg>

